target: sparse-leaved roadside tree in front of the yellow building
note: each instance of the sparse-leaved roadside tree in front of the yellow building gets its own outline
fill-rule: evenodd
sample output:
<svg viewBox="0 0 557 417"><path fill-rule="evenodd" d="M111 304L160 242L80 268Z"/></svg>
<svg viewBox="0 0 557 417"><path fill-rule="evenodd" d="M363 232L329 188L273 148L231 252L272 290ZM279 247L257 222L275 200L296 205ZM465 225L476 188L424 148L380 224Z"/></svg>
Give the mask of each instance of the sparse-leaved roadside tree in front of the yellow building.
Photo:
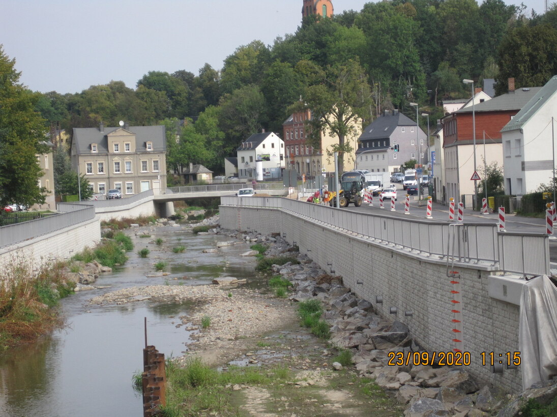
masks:
<svg viewBox="0 0 557 417"><path fill-rule="evenodd" d="M367 76L356 61L344 65L328 67L322 72L319 84L306 88L304 101L295 106L309 108L313 117L307 120L309 140L316 149L321 148L321 134L330 133L339 142L329 150L338 152L338 170L344 171L344 154L351 153L350 137L359 134L363 120L369 118L371 92Z"/></svg>

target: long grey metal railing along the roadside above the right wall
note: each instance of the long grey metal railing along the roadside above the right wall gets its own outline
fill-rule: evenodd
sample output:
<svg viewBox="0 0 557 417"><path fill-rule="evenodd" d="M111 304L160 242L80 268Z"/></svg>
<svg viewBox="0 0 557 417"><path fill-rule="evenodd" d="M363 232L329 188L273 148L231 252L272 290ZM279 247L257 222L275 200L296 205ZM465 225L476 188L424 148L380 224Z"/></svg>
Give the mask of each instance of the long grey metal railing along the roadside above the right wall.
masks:
<svg viewBox="0 0 557 417"><path fill-rule="evenodd" d="M466 223L452 242L448 223L355 213L281 197L221 197L228 206L278 209L297 217L375 239L416 254L497 268L522 275L549 274L545 234L498 232L497 225ZM453 246L449 254L449 240Z"/></svg>

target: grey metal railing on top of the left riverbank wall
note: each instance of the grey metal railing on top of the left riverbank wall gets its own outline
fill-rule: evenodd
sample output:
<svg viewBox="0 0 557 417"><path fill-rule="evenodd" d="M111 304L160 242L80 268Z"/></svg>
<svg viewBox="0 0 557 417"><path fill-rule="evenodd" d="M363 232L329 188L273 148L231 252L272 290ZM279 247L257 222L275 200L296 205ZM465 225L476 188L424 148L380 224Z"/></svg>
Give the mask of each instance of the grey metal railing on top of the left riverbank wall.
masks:
<svg viewBox="0 0 557 417"><path fill-rule="evenodd" d="M0 247L46 235L95 218L95 207L79 203L57 203L58 214L0 227Z"/></svg>

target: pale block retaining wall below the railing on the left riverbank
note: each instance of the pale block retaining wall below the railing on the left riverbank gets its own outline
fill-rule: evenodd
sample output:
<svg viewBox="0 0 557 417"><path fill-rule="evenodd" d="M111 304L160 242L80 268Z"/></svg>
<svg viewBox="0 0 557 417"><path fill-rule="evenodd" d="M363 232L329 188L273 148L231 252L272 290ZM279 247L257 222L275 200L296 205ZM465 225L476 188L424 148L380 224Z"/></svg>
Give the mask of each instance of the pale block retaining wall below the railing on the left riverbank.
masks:
<svg viewBox="0 0 557 417"><path fill-rule="evenodd" d="M0 267L12 260L31 262L34 269L49 261L66 259L101 239L100 222L92 219L0 249Z"/></svg>

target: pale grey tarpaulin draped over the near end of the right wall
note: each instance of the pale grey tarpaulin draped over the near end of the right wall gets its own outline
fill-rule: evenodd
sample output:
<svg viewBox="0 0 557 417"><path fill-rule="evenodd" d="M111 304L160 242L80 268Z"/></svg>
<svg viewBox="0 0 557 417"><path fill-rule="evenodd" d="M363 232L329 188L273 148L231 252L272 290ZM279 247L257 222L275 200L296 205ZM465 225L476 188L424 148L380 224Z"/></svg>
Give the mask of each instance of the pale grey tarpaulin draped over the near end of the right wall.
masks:
<svg viewBox="0 0 557 417"><path fill-rule="evenodd" d="M547 275L522 288L519 349L524 389L557 375L557 288Z"/></svg>

